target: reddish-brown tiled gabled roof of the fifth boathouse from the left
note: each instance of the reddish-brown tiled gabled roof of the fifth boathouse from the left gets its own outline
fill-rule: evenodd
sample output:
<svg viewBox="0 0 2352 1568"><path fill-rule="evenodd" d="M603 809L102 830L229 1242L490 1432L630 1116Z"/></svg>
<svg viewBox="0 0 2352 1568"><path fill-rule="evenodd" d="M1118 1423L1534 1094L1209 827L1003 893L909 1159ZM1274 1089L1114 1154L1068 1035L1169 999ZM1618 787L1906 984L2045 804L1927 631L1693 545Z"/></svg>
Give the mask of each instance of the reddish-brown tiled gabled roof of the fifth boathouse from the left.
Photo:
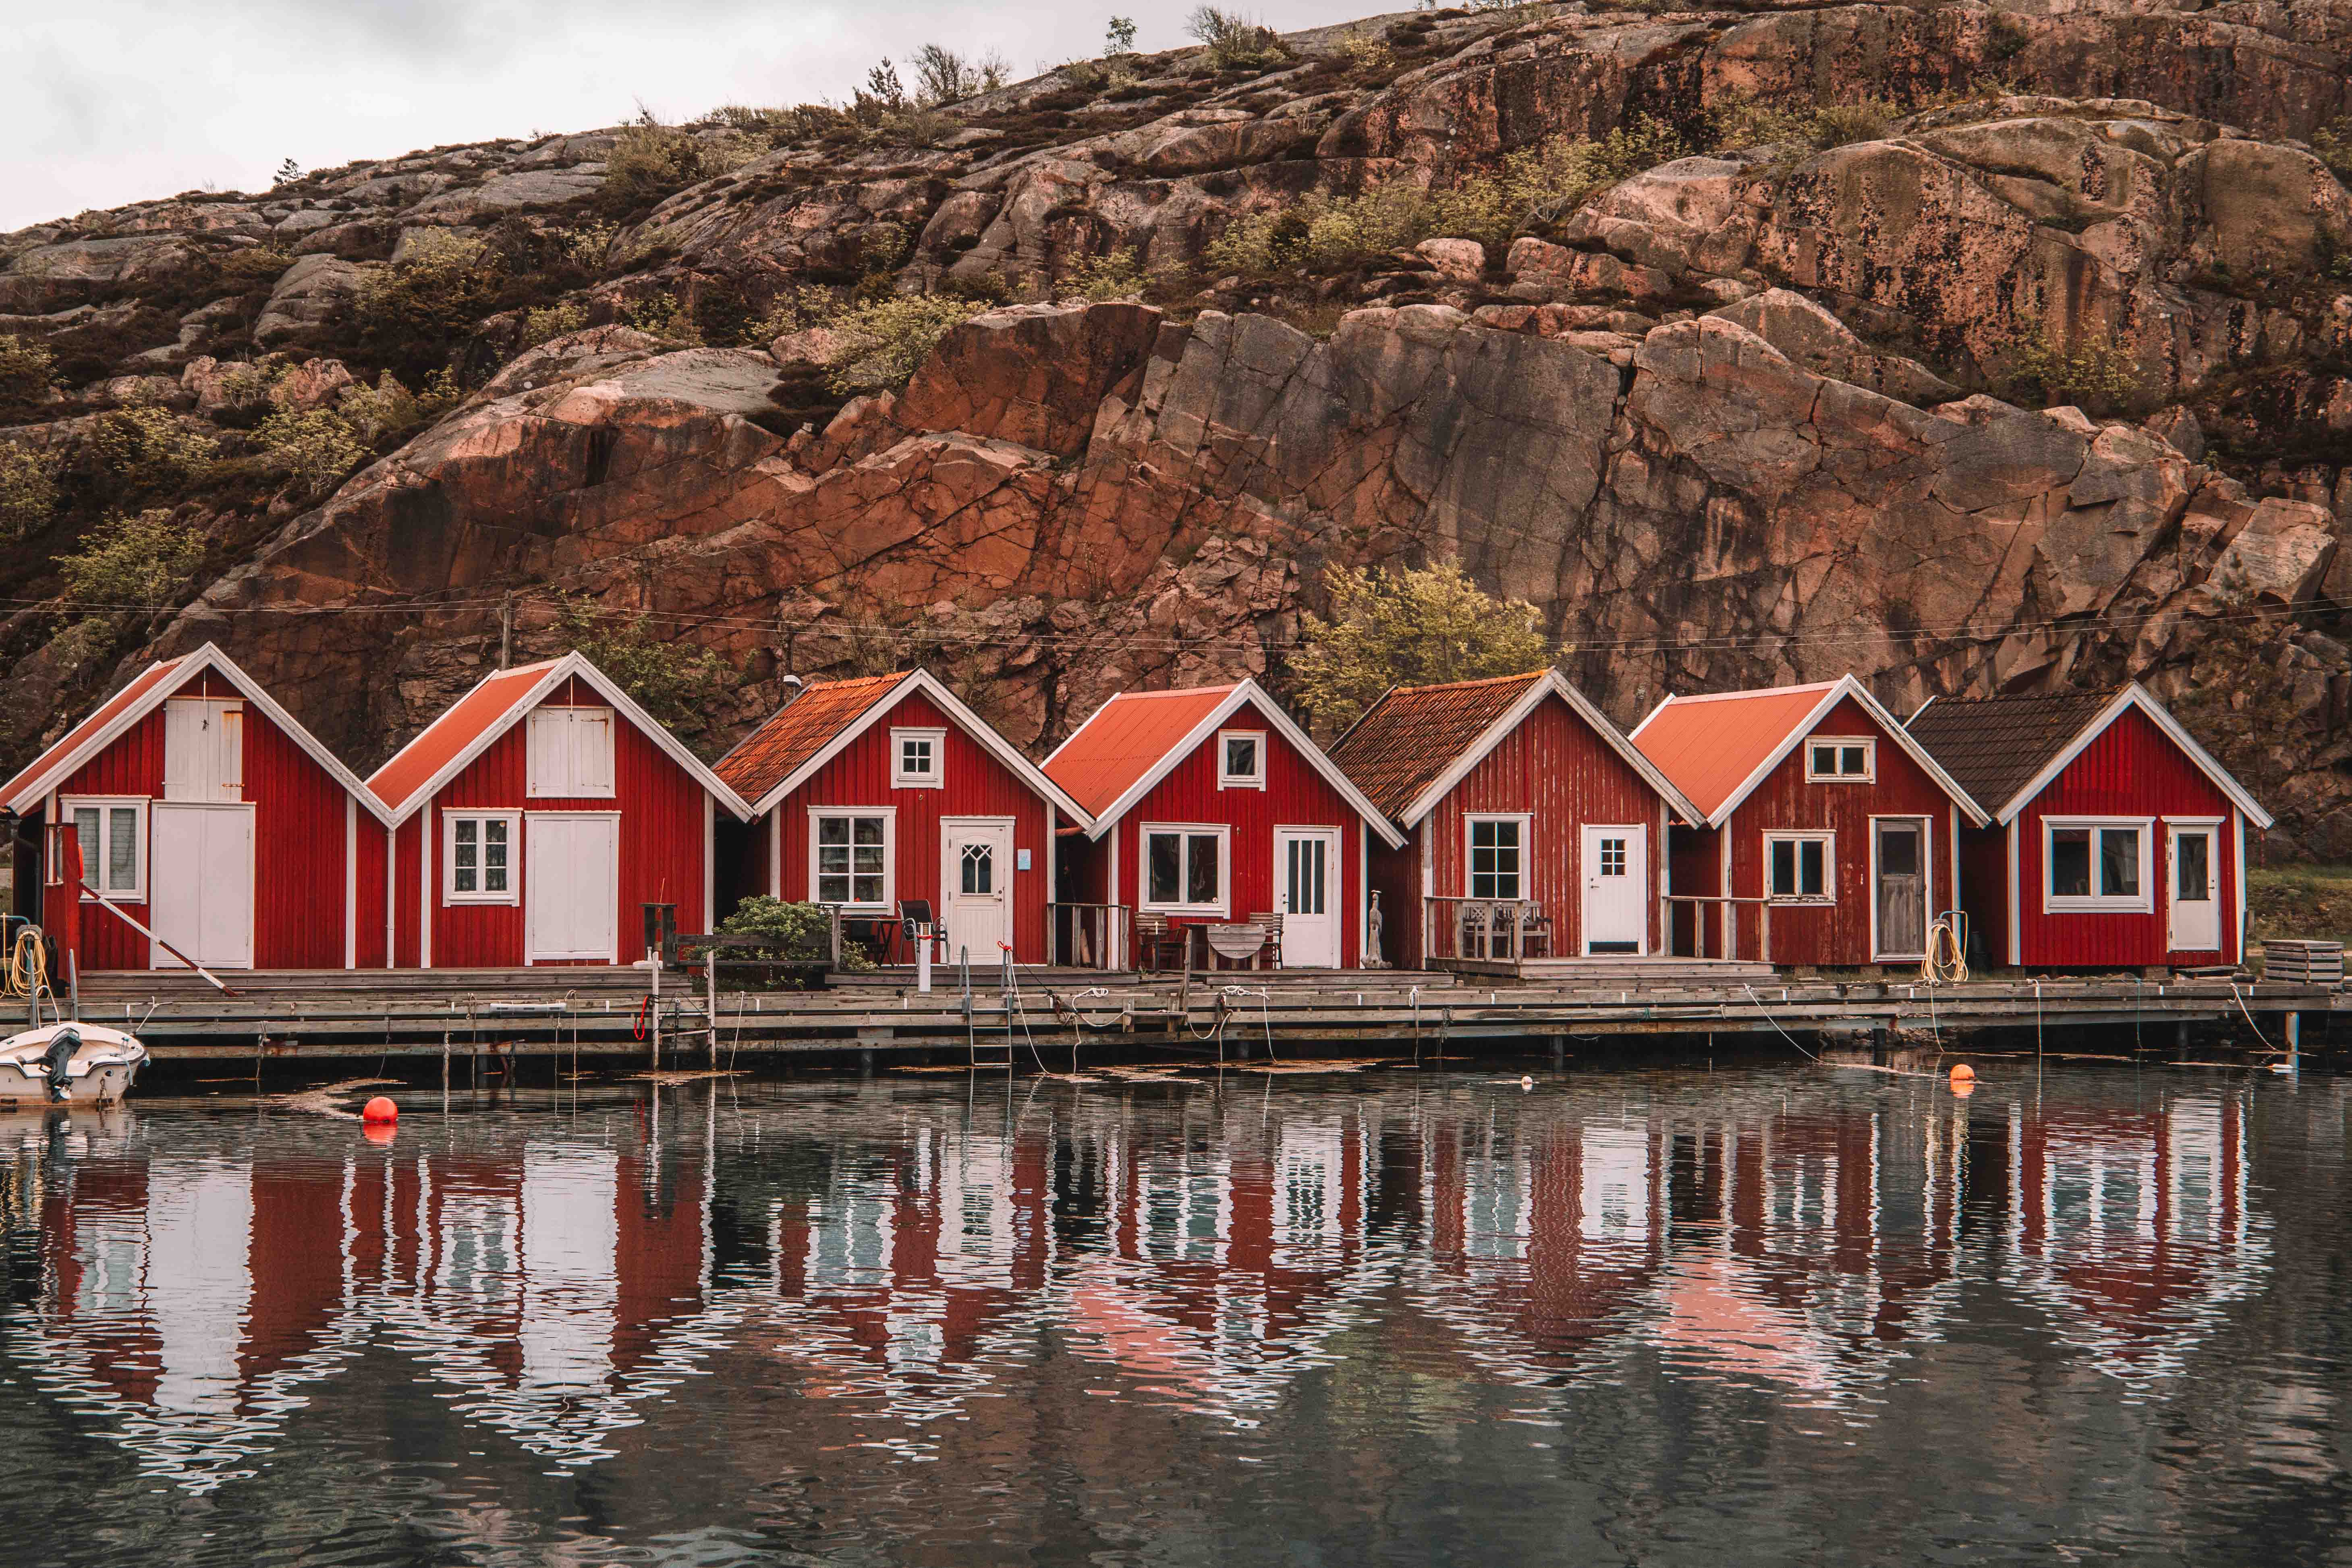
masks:
<svg viewBox="0 0 2352 1568"><path fill-rule="evenodd" d="M1686 818L1698 809L1616 724L1559 670L1397 686L1348 726L1331 745L1341 764L1381 811L1411 827L1446 797L1543 698L1557 696L1609 748Z"/></svg>

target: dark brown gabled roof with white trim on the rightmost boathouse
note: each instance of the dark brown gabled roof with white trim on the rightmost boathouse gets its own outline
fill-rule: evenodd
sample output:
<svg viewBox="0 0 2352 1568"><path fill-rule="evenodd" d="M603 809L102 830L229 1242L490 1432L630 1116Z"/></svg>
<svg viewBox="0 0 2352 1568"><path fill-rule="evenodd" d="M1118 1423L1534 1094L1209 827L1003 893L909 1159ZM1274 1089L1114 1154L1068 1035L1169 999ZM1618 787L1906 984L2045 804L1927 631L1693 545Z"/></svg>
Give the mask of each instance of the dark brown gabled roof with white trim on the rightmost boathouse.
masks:
<svg viewBox="0 0 2352 1568"><path fill-rule="evenodd" d="M2009 823L2091 741L2131 710L2147 715L2256 827L2270 827L2270 813L2260 802L2138 682L2046 696L1929 698L1905 729L1992 813L1992 820Z"/></svg>

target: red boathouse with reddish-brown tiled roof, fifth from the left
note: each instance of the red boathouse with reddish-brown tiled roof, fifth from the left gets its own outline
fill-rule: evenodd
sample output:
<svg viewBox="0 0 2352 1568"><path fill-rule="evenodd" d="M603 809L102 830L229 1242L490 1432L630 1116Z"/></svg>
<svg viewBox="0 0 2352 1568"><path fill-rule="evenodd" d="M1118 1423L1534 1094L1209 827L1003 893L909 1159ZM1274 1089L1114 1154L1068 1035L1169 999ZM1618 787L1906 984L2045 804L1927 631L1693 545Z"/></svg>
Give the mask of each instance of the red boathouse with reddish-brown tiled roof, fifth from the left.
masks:
<svg viewBox="0 0 2352 1568"><path fill-rule="evenodd" d="M1383 957L1663 952L1668 820L1698 809L1559 670L1397 686L1331 759L1404 832L1371 851Z"/></svg>

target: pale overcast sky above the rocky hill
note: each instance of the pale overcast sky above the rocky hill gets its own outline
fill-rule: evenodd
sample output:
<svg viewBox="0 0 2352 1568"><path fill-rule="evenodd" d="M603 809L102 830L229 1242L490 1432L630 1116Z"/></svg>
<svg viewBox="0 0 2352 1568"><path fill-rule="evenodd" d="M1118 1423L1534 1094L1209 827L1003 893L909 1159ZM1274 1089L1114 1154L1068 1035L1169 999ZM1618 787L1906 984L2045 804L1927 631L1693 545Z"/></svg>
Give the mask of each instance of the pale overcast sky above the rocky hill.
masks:
<svg viewBox="0 0 2352 1568"><path fill-rule="evenodd" d="M1275 0L1291 31L1395 0ZM0 233L207 183L266 190L306 169L445 141L663 118L713 103L842 99L922 42L1033 75L1103 47L1185 42L1190 0L64 0L0 24Z"/></svg>

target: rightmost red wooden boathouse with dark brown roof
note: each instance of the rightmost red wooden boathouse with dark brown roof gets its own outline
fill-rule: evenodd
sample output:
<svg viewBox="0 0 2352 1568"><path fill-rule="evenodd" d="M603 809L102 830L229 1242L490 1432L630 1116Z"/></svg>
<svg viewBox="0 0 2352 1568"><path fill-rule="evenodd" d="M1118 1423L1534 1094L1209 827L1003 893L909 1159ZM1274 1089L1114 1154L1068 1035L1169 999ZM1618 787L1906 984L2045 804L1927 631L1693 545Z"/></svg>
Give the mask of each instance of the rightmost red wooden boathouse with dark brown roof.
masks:
<svg viewBox="0 0 2352 1568"><path fill-rule="evenodd" d="M1907 729L1992 818L1962 835L1992 961L2244 961L2246 825L2270 813L2143 686L1940 698Z"/></svg>

